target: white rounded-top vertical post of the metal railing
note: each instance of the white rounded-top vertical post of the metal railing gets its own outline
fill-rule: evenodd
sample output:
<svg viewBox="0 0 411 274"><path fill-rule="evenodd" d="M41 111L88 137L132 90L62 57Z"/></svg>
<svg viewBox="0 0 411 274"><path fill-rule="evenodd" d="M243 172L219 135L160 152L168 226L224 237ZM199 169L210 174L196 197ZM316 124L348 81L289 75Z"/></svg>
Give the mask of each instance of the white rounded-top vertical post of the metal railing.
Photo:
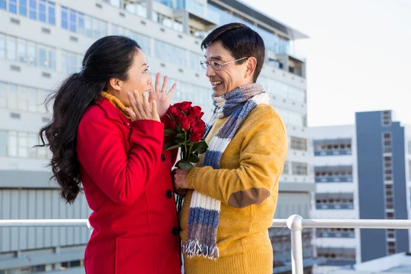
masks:
<svg viewBox="0 0 411 274"><path fill-rule="evenodd" d="M292 274L303 274L303 217L292 215L287 219L287 227L291 230L291 266Z"/></svg>

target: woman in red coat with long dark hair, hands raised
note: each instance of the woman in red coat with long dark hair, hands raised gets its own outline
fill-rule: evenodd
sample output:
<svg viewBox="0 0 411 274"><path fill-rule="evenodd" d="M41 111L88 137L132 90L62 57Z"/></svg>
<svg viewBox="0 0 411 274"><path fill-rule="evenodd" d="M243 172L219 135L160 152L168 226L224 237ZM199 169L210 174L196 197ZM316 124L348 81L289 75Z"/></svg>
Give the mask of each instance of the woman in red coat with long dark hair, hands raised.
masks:
<svg viewBox="0 0 411 274"><path fill-rule="evenodd" d="M160 90L158 74L153 90L147 67L134 40L97 40L82 71L49 99L53 119L40 130L62 198L73 203L82 184L93 211L88 274L181 273L170 176L177 153L163 150L175 85L166 92L164 77Z"/></svg>

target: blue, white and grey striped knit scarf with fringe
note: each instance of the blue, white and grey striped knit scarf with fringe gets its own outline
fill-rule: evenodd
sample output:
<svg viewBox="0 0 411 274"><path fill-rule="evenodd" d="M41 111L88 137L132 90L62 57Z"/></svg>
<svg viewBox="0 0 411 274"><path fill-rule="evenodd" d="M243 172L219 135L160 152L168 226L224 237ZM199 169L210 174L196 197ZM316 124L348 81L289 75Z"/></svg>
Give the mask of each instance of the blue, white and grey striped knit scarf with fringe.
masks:
<svg viewBox="0 0 411 274"><path fill-rule="evenodd" d="M216 118L227 116L229 118L210 141L206 155L204 155L203 166L220 169L221 155L236 134L242 121L257 105L260 103L269 104L270 102L269 95L264 92L261 84L240 86L222 97L213 97L213 100L216 111L206 127L206 134L210 131ZM183 252L188 258L194 256L203 256L212 260L219 258L217 228L220 221L220 206L221 202L216 199L202 195L197 191L192 193L188 212L188 238L183 246Z"/></svg>

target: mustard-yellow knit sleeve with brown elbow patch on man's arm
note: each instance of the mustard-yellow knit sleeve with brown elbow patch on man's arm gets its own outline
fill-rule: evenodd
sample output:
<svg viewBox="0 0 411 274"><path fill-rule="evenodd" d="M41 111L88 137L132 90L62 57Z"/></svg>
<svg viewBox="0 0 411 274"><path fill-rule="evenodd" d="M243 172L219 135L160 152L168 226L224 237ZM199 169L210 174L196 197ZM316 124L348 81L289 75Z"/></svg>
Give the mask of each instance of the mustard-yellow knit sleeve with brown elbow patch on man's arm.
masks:
<svg viewBox="0 0 411 274"><path fill-rule="evenodd" d="M277 195L276 184L288 151L282 120L274 110L264 112L245 132L238 169L195 167L188 173L188 188L234 208L260 204Z"/></svg>

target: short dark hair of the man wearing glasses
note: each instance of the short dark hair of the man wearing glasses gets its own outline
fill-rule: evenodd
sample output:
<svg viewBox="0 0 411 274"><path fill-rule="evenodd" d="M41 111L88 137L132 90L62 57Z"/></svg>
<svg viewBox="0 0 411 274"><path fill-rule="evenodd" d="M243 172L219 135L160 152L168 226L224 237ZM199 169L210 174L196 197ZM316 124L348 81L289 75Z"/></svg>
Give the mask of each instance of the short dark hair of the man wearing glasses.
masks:
<svg viewBox="0 0 411 274"><path fill-rule="evenodd" d="M244 24L229 23L217 27L208 34L201 42L201 49L207 49L214 42L221 42L223 47L231 52L235 59L243 57L256 58L257 65L253 82L257 82L265 58L264 40L262 40L260 34ZM242 64L243 62L245 62L245 59L237 61L236 64Z"/></svg>

